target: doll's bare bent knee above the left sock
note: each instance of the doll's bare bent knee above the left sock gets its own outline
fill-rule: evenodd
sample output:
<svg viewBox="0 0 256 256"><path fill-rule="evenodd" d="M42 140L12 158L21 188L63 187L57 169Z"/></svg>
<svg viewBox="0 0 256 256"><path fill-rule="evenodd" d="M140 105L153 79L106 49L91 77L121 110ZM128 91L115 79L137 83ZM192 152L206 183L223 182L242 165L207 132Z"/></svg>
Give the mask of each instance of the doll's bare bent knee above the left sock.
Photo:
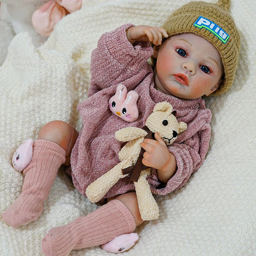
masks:
<svg viewBox="0 0 256 256"><path fill-rule="evenodd" d="M39 132L38 138L50 140L60 145L66 153L71 153L71 149L78 137L78 132L70 124L63 121L51 121L45 124Z"/></svg>

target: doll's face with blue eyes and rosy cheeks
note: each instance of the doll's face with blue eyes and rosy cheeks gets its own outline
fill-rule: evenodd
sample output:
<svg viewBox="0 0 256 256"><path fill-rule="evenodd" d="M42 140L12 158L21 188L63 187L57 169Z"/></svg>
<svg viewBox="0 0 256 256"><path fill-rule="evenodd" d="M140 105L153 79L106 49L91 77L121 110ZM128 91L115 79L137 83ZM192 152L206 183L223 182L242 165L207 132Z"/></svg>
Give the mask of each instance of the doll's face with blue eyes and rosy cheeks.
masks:
<svg viewBox="0 0 256 256"><path fill-rule="evenodd" d="M178 98L210 95L220 84L222 60L217 49L193 33L177 34L155 49L157 89Z"/></svg>

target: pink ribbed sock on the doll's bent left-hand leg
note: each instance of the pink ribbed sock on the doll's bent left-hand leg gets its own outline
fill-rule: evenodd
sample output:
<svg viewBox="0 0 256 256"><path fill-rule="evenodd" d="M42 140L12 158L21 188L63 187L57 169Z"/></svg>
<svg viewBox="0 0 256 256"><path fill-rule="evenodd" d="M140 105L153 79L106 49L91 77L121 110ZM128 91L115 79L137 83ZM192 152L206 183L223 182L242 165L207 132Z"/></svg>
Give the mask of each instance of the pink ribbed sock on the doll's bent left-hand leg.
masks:
<svg viewBox="0 0 256 256"><path fill-rule="evenodd" d="M2 214L4 222L18 228L37 220L44 210L58 168L65 162L65 150L54 142L36 140L33 158L23 171L22 193Z"/></svg>

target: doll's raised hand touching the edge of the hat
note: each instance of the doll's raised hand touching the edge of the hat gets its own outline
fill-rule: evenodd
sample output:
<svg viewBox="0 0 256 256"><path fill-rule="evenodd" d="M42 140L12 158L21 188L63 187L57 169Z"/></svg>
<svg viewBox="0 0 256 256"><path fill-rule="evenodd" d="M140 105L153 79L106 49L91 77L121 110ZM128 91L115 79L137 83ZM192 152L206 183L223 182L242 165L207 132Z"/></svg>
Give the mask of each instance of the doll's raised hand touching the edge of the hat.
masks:
<svg viewBox="0 0 256 256"><path fill-rule="evenodd" d="M157 28L147 25L131 26L126 30L129 42L152 42L156 46L162 43L162 38L167 38L168 34L164 28Z"/></svg>

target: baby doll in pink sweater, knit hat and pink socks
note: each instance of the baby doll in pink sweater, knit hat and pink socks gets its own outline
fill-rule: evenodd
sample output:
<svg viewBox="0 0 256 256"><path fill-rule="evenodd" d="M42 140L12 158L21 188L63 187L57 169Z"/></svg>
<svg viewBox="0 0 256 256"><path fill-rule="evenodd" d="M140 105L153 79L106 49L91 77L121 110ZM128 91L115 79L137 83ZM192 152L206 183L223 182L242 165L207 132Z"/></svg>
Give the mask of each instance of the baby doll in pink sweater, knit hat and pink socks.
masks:
<svg viewBox="0 0 256 256"><path fill-rule="evenodd" d="M2 214L4 222L18 228L38 220L62 164L71 165L73 184L86 196L90 183L119 162L122 142L114 139L116 130L142 128L156 103L164 101L188 127L170 146L157 133L156 140L143 140L142 163L153 169L147 178L153 194L182 188L204 162L209 146L211 113L201 97L222 94L233 84L240 38L229 9L228 0L188 2L162 28L126 24L103 34L92 52L89 97L78 105L81 130L62 121L42 127L23 170L22 193ZM152 55L153 68L147 62ZM138 94L138 118L129 124L109 109L119 83ZM104 199L106 204L94 212L47 232L43 254L63 256L102 245L143 223L129 177Z"/></svg>

